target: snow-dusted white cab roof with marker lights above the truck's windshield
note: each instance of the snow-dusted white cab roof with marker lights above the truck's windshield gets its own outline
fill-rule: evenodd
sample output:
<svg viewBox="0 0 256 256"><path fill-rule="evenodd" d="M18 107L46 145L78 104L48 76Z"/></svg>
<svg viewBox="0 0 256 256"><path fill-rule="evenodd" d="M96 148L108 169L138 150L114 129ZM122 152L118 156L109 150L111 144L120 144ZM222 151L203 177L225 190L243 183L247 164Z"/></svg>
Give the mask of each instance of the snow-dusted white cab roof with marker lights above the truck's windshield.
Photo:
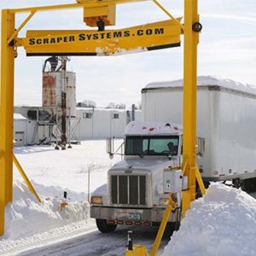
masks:
<svg viewBox="0 0 256 256"><path fill-rule="evenodd" d="M132 121L125 126L126 135L173 135L183 132L182 125Z"/></svg>

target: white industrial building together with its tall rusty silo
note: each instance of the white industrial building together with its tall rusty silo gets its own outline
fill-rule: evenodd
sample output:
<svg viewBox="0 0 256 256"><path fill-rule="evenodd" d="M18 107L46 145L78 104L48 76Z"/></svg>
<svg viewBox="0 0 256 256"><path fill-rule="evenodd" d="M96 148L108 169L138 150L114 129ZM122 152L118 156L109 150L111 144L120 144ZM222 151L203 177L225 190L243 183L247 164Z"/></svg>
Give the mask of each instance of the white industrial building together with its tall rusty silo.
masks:
<svg viewBox="0 0 256 256"><path fill-rule="evenodd" d="M76 108L76 74L67 71L67 57L44 61L42 106L15 107L15 145L67 144L87 139L123 137L131 119L142 119L140 110Z"/></svg>

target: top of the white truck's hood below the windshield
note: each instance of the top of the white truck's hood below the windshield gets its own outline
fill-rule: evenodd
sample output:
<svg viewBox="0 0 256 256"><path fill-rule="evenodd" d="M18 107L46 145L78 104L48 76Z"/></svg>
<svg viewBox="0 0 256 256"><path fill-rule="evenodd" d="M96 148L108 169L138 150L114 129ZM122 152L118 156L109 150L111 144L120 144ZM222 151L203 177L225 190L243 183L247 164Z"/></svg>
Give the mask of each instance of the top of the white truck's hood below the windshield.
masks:
<svg viewBox="0 0 256 256"><path fill-rule="evenodd" d="M109 172L137 170L144 172L158 172L159 170L173 166L173 160L166 159L131 159L121 160L109 169Z"/></svg>

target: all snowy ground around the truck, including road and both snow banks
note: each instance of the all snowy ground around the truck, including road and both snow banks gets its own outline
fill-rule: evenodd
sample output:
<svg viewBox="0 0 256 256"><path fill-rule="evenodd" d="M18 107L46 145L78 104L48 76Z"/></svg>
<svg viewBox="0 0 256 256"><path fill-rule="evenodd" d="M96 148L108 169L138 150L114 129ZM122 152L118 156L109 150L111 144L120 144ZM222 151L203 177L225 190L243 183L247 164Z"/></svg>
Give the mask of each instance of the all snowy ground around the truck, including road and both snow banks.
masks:
<svg viewBox="0 0 256 256"><path fill-rule="evenodd" d="M121 143L119 141L118 143ZM123 255L127 229L101 234L90 219L90 192L106 183L109 160L104 141L85 141L66 151L49 146L15 148L26 174L42 199L38 201L15 170L14 202L6 207L6 232L0 254ZM60 210L63 192L68 206ZM132 228L135 244L148 250L157 229ZM195 201L172 236L164 255L255 255L256 200L239 189L214 183ZM57 243L56 243L57 242ZM55 243L55 244L53 244ZM163 241L160 253L167 241Z"/></svg>

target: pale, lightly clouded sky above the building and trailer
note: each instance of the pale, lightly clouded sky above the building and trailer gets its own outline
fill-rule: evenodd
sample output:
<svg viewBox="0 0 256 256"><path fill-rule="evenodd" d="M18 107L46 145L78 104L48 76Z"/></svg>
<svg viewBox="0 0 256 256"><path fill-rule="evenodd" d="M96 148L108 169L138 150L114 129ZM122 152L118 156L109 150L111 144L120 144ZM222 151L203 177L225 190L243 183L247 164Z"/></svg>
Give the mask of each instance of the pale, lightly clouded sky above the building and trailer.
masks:
<svg viewBox="0 0 256 256"><path fill-rule="evenodd" d="M1 9L21 8L72 0L1 0ZM161 0L175 16L183 15L183 1ZM256 86L256 1L199 0L203 30L198 48L198 75L217 75ZM26 15L17 16L17 24ZM90 29L82 21L82 10L70 9L36 14L20 32L28 29ZM154 3L118 5L116 26L137 26L166 15ZM183 37L182 37L183 41ZM15 104L41 105L44 57L26 57L19 49L15 63ZM140 91L148 83L183 77L183 45L131 55L72 57L68 67L77 73L77 102L89 99L97 106L140 102Z"/></svg>

